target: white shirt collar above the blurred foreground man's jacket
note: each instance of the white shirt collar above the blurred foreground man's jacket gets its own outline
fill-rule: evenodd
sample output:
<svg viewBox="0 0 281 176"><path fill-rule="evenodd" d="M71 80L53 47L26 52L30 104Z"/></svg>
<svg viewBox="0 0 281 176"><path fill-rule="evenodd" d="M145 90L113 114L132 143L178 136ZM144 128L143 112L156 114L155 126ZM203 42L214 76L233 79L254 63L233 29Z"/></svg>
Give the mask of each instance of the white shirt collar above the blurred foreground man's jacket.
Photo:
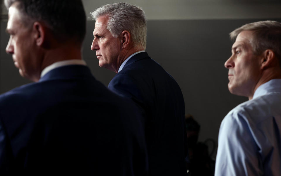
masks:
<svg viewBox="0 0 281 176"><path fill-rule="evenodd" d="M78 59L73 59L73 60L63 60L59 62L55 62L46 68L44 68L41 72L41 78L46 75L49 71L61 67L61 66L66 66L66 65L86 65L86 62L84 60L78 60Z"/></svg>

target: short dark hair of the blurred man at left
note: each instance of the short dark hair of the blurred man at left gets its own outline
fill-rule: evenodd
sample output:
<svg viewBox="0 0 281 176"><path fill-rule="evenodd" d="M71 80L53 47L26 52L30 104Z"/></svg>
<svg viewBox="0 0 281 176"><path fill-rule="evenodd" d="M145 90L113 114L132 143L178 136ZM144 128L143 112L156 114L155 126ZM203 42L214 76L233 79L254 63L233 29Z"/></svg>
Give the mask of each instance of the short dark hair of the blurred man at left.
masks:
<svg viewBox="0 0 281 176"><path fill-rule="evenodd" d="M4 0L7 9L16 2L23 15L23 24L43 22L56 38L75 38L82 44L86 33L86 15L81 0Z"/></svg>

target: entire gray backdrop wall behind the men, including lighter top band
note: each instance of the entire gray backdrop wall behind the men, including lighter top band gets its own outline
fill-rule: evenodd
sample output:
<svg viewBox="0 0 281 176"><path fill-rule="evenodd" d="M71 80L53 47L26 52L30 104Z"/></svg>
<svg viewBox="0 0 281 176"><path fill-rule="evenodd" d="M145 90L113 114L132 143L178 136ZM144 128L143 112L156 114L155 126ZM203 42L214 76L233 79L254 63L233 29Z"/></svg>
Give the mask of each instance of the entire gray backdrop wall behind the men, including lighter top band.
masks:
<svg viewBox="0 0 281 176"><path fill-rule="evenodd" d="M1 1L1 0L0 0ZM87 16L115 0L82 0ZM281 22L280 0L126 0L143 8L148 19L146 51L178 82L186 114L201 124L199 141L216 142L223 117L247 99L227 89L224 62L232 42L228 33L249 22L273 19ZM21 78L10 55L5 53L7 10L2 6L0 23L0 93L29 81ZM98 66L90 50L95 22L88 18L83 58L93 75L107 85L115 73ZM55 86L55 85L54 85ZM215 157L215 153L213 154Z"/></svg>

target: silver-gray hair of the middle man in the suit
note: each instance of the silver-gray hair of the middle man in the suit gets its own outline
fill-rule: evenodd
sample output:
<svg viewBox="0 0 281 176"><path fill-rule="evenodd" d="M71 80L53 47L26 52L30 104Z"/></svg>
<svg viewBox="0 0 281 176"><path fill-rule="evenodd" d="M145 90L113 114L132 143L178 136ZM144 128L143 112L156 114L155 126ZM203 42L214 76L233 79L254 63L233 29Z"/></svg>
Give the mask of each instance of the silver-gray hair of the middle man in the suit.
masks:
<svg viewBox="0 0 281 176"><path fill-rule="evenodd" d="M123 2L101 6L90 15L97 20L100 16L107 16L107 29L113 37L118 37L122 31L129 31L135 47L146 48L146 18L140 7Z"/></svg>

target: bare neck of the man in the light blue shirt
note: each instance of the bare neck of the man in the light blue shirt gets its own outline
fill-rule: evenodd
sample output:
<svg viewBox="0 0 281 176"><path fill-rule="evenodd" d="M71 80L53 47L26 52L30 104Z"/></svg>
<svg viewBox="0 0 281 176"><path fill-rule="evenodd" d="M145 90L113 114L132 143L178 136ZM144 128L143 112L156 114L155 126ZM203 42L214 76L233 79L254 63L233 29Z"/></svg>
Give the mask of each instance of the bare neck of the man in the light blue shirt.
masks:
<svg viewBox="0 0 281 176"><path fill-rule="evenodd" d="M271 67L263 71L261 75L261 79L259 79L258 83L256 84L253 93L248 96L249 100L253 98L254 93L262 84L270 81L271 79L281 79L281 68L278 67Z"/></svg>

